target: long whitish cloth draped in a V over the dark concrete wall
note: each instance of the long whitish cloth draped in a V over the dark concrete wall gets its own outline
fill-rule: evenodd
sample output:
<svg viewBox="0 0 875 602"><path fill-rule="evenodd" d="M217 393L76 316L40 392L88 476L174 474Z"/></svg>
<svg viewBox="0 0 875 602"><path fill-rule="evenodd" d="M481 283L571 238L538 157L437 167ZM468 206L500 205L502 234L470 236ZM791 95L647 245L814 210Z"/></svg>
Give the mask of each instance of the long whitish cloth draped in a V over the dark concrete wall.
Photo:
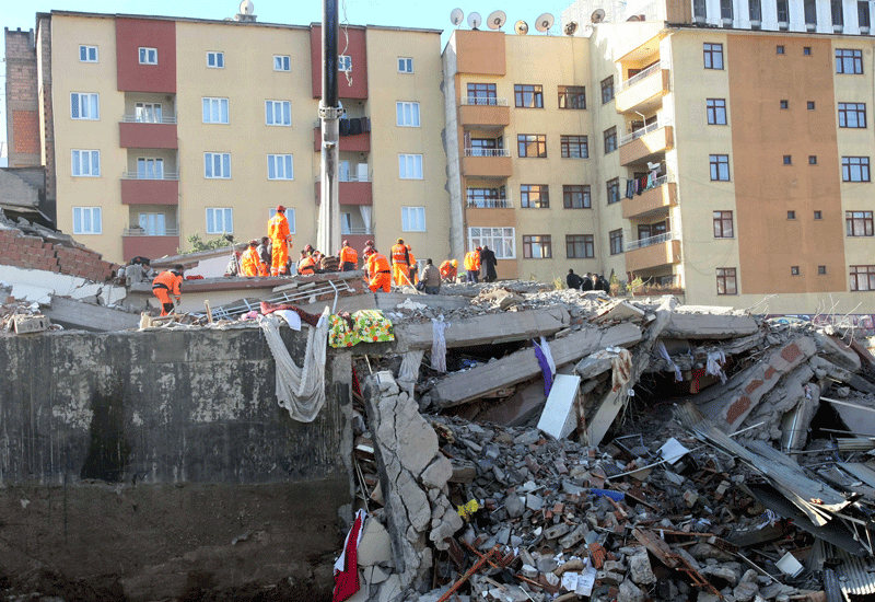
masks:
<svg viewBox="0 0 875 602"><path fill-rule="evenodd" d="M328 344L328 316L325 308L316 327L308 326L304 366L299 368L280 336L279 316L258 316L277 366L277 400L299 422L312 422L325 405L325 348Z"/></svg>

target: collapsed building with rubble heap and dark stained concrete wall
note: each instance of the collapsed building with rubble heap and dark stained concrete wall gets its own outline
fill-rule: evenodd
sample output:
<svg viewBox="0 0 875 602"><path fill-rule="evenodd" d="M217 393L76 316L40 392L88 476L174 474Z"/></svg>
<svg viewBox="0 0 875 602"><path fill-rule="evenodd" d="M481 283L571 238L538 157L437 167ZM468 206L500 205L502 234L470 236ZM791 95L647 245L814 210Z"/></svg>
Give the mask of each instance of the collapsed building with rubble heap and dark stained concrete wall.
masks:
<svg viewBox="0 0 875 602"><path fill-rule="evenodd" d="M136 282L77 285L95 333L52 329L3 274L11 590L873 594L875 366L840 319L346 273L117 329L106 296Z"/></svg>

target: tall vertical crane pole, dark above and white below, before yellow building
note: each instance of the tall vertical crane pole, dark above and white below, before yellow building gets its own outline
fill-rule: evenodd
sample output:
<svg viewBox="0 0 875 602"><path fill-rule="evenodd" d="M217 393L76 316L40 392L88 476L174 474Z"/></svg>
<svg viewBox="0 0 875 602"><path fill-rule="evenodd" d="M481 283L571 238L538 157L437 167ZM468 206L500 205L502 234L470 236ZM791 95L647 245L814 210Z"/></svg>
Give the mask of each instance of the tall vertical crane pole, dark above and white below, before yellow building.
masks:
<svg viewBox="0 0 875 602"><path fill-rule="evenodd" d="M340 248L340 201L338 165L340 164L340 105L337 93L337 0L322 2L322 202L316 246L326 255Z"/></svg>

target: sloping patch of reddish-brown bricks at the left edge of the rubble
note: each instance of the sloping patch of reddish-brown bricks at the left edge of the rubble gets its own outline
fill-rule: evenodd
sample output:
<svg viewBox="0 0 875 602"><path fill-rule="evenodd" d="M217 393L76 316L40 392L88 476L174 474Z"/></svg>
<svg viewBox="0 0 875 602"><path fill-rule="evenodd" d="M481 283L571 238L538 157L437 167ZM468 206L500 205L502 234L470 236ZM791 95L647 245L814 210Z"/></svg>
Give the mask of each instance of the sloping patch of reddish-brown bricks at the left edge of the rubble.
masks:
<svg viewBox="0 0 875 602"><path fill-rule="evenodd" d="M93 282L113 278L121 267L104 262L94 251L47 243L20 230L0 230L0 264L66 274Z"/></svg>

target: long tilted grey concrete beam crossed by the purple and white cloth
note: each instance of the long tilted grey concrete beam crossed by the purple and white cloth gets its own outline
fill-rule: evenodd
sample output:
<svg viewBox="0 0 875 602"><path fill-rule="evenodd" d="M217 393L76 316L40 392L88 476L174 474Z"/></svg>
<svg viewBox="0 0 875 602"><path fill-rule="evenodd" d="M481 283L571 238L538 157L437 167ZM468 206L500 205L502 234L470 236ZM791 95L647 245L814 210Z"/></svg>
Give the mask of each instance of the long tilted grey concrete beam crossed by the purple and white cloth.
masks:
<svg viewBox="0 0 875 602"><path fill-rule="evenodd" d="M578 361L605 347L629 347L641 340L641 328L621 323L609 328L585 326L550 341L550 354L557 367ZM440 408L472 402L490 391L527 381L541 373L538 360L530 348L521 349L495 361L471 370L456 372L431 391L432 402Z"/></svg>

